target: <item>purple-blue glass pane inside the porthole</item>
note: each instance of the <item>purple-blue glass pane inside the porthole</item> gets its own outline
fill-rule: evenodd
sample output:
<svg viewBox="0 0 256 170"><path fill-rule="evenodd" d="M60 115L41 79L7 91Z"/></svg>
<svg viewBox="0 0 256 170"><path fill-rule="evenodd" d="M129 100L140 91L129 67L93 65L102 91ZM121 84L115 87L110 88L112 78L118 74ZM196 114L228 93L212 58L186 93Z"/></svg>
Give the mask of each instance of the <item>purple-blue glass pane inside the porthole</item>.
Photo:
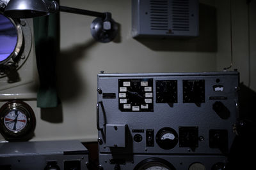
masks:
<svg viewBox="0 0 256 170"><path fill-rule="evenodd" d="M0 13L0 62L7 59L17 44L17 29L13 22Z"/></svg>

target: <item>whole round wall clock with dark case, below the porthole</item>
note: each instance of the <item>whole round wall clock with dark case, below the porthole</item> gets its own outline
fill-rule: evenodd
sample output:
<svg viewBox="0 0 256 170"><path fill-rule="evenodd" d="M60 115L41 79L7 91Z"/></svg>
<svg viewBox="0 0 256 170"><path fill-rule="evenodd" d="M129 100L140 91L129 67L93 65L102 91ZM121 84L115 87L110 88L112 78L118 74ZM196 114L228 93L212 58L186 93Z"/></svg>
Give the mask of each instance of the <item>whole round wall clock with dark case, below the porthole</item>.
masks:
<svg viewBox="0 0 256 170"><path fill-rule="evenodd" d="M32 108L22 101L10 101L0 108L0 132L8 141L27 141L33 136L36 118Z"/></svg>

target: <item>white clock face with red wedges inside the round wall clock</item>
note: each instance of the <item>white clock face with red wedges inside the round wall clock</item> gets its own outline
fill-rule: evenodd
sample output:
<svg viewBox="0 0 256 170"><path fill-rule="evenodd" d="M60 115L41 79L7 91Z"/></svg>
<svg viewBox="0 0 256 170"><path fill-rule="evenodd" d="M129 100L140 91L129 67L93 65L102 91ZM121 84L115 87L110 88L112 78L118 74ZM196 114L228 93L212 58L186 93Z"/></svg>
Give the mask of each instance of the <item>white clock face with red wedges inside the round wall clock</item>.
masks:
<svg viewBox="0 0 256 170"><path fill-rule="evenodd" d="M27 123L26 115L18 110L10 111L4 117L4 125L12 132L21 131Z"/></svg>

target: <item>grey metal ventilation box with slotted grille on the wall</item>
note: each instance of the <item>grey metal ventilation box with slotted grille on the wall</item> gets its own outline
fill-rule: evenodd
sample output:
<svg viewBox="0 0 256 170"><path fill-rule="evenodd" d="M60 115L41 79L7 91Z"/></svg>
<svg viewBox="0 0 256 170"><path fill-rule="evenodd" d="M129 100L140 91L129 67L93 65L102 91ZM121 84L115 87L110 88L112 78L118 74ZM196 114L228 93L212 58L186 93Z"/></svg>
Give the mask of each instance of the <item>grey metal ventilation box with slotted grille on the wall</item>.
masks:
<svg viewBox="0 0 256 170"><path fill-rule="evenodd" d="M198 0L132 0L132 36L198 36Z"/></svg>

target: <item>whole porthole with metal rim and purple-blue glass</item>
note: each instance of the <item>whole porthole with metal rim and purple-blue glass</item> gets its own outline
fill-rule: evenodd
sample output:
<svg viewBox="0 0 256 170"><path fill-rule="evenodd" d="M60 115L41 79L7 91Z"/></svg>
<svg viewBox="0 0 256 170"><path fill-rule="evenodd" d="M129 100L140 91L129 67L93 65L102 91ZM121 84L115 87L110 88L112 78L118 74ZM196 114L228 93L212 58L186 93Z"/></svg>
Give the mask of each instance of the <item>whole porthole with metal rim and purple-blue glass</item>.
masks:
<svg viewBox="0 0 256 170"><path fill-rule="evenodd" d="M0 12L0 78L24 64L31 50L31 37L25 19L9 18Z"/></svg>

